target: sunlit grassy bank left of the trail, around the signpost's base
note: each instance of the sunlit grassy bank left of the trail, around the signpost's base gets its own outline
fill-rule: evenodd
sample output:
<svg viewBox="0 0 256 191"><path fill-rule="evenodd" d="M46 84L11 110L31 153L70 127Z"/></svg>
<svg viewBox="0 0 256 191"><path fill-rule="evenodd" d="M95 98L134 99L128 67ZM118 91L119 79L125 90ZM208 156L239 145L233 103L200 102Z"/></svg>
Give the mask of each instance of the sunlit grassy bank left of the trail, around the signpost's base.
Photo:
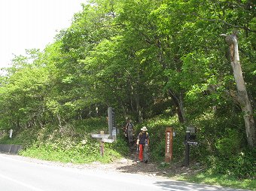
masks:
<svg viewBox="0 0 256 191"><path fill-rule="evenodd" d="M108 163L120 159L128 153L125 141L119 140L114 144L105 143L104 156L101 156L99 141L91 138L90 133L107 131L105 117L90 118L76 121L73 124L59 126L48 125L44 128L22 129L15 131L13 138L4 136L2 144L22 144L25 149L20 155L56 162Z"/></svg>

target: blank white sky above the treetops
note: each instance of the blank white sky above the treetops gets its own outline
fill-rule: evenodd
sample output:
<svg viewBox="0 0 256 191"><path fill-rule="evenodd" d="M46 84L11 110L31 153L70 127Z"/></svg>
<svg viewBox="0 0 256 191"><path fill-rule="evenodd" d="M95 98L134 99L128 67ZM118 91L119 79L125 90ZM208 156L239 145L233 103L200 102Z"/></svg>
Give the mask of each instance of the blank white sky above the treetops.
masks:
<svg viewBox="0 0 256 191"><path fill-rule="evenodd" d="M44 50L86 0L0 0L0 68L26 49Z"/></svg>

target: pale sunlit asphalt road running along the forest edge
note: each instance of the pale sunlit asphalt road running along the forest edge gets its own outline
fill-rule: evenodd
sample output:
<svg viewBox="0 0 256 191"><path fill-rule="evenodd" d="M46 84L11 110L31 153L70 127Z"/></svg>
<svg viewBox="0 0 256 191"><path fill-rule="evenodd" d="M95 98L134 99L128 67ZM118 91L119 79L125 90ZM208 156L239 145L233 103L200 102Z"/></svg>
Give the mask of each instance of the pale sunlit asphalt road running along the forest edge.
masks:
<svg viewBox="0 0 256 191"><path fill-rule="evenodd" d="M185 183L142 174L38 164L0 154L1 191L242 190Z"/></svg>

